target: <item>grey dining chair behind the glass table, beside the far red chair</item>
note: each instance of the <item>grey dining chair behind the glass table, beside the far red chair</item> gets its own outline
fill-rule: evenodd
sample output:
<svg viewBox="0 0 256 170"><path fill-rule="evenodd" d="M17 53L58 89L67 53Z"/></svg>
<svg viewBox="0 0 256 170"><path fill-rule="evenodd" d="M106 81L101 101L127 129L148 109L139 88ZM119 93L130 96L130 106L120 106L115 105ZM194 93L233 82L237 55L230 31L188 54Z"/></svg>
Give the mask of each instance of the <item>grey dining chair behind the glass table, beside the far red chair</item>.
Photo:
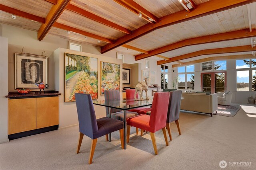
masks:
<svg viewBox="0 0 256 170"><path fill-rule="evenodd" d="M110 102L114 99L120 100L120 92L119 92L119 90L105 90L104 97L105 97L105 102ZM112 118L124 121L124 112L123 111L120 111L119 109L106 107L106 116L109 117L110 114L111 114ZM133 111L126 112L126 118L133 117L136 115L138 115L138 113L133 112ZM138 134L138 133L139 133L139 130L138 130L138 128L136 128L136 134Z"/></svg>

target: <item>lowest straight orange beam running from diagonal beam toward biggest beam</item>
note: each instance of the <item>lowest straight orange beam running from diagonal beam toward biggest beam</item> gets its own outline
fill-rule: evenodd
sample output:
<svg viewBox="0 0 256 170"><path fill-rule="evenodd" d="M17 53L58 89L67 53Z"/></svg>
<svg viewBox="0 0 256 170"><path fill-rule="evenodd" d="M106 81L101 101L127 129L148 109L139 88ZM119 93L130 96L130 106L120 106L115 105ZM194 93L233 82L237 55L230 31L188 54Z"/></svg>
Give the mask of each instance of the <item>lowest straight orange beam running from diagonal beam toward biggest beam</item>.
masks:
<svg viewBox="0 0 256 170"><path fill-rule="evenodd" d="M54 23L53 25L54 27L56 28L60 28L60 29L64 29L64 30L67 30L67 31L72 31L72 32L75 32L75 33L79 33L79 34L82 34L82 35L85 35L85 36L88 36L88 37L91 37L91 38L94 38L94 39L98 39L100 41L104 41L106 43L114 43L113 40L111 39L107 39L107 38L104 38L104 37L100 37L99 35L95 35L95 34L92 34L92 33L88 33L86 31L82 31L81 29L77 29L77 28L74 28L74 27L70 27L68 25L64 25L62 23Z"/></svg>

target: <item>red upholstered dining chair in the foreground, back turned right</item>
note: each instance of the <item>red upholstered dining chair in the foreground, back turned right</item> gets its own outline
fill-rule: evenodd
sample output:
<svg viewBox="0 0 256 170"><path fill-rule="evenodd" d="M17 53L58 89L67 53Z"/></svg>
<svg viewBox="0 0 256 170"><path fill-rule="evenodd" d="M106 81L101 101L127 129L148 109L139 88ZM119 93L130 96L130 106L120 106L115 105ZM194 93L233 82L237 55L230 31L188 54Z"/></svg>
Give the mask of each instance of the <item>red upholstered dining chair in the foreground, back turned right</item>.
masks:
<svg viewBox="0 0 256 170"><path fill-rule="evenodd" d="M130 127L138 127L150 132L155 154L158 154L156 147L155 132L162 129L166 146L168 146L166 136L166 119L168 111L170 92L161 92L154 94L151 115L141 114L127 119L127 143L130 138Z"/></svg>

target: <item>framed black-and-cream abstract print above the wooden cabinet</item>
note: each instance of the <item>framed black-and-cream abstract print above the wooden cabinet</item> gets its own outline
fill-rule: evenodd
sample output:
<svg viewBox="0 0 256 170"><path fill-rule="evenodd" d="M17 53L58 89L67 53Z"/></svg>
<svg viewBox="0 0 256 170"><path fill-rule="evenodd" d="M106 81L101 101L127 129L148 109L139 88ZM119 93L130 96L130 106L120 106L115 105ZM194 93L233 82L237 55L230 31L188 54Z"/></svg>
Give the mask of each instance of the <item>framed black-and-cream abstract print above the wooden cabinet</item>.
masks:
<svg viewBox="0 0 256 170"><path fill-rule="evenodd" d="M15 89L38 88L36 84L48 84L48 57L33 54L15 55Z"/></svg>

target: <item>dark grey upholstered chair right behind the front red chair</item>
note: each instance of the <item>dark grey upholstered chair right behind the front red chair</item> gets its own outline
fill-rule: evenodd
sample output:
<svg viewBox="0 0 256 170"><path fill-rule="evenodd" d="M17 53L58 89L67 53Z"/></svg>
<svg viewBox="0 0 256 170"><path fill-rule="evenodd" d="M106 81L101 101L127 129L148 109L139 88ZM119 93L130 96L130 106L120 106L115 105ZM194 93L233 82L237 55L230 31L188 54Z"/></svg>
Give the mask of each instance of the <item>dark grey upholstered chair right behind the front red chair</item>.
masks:
<svg viewBox="0 0 256 170"><path fill-rule="evenodd" d="M168 112L167 112L167 120L166 120L166 127L167 131L170 137L170 140L172 141L172 135L171 135L171 129L170 129L170 123L175 121L179 134L180 132L180 102L181 102L181 90L171 91L170 92L170 99L169 99L169 105L168 105Z"/></svg>

